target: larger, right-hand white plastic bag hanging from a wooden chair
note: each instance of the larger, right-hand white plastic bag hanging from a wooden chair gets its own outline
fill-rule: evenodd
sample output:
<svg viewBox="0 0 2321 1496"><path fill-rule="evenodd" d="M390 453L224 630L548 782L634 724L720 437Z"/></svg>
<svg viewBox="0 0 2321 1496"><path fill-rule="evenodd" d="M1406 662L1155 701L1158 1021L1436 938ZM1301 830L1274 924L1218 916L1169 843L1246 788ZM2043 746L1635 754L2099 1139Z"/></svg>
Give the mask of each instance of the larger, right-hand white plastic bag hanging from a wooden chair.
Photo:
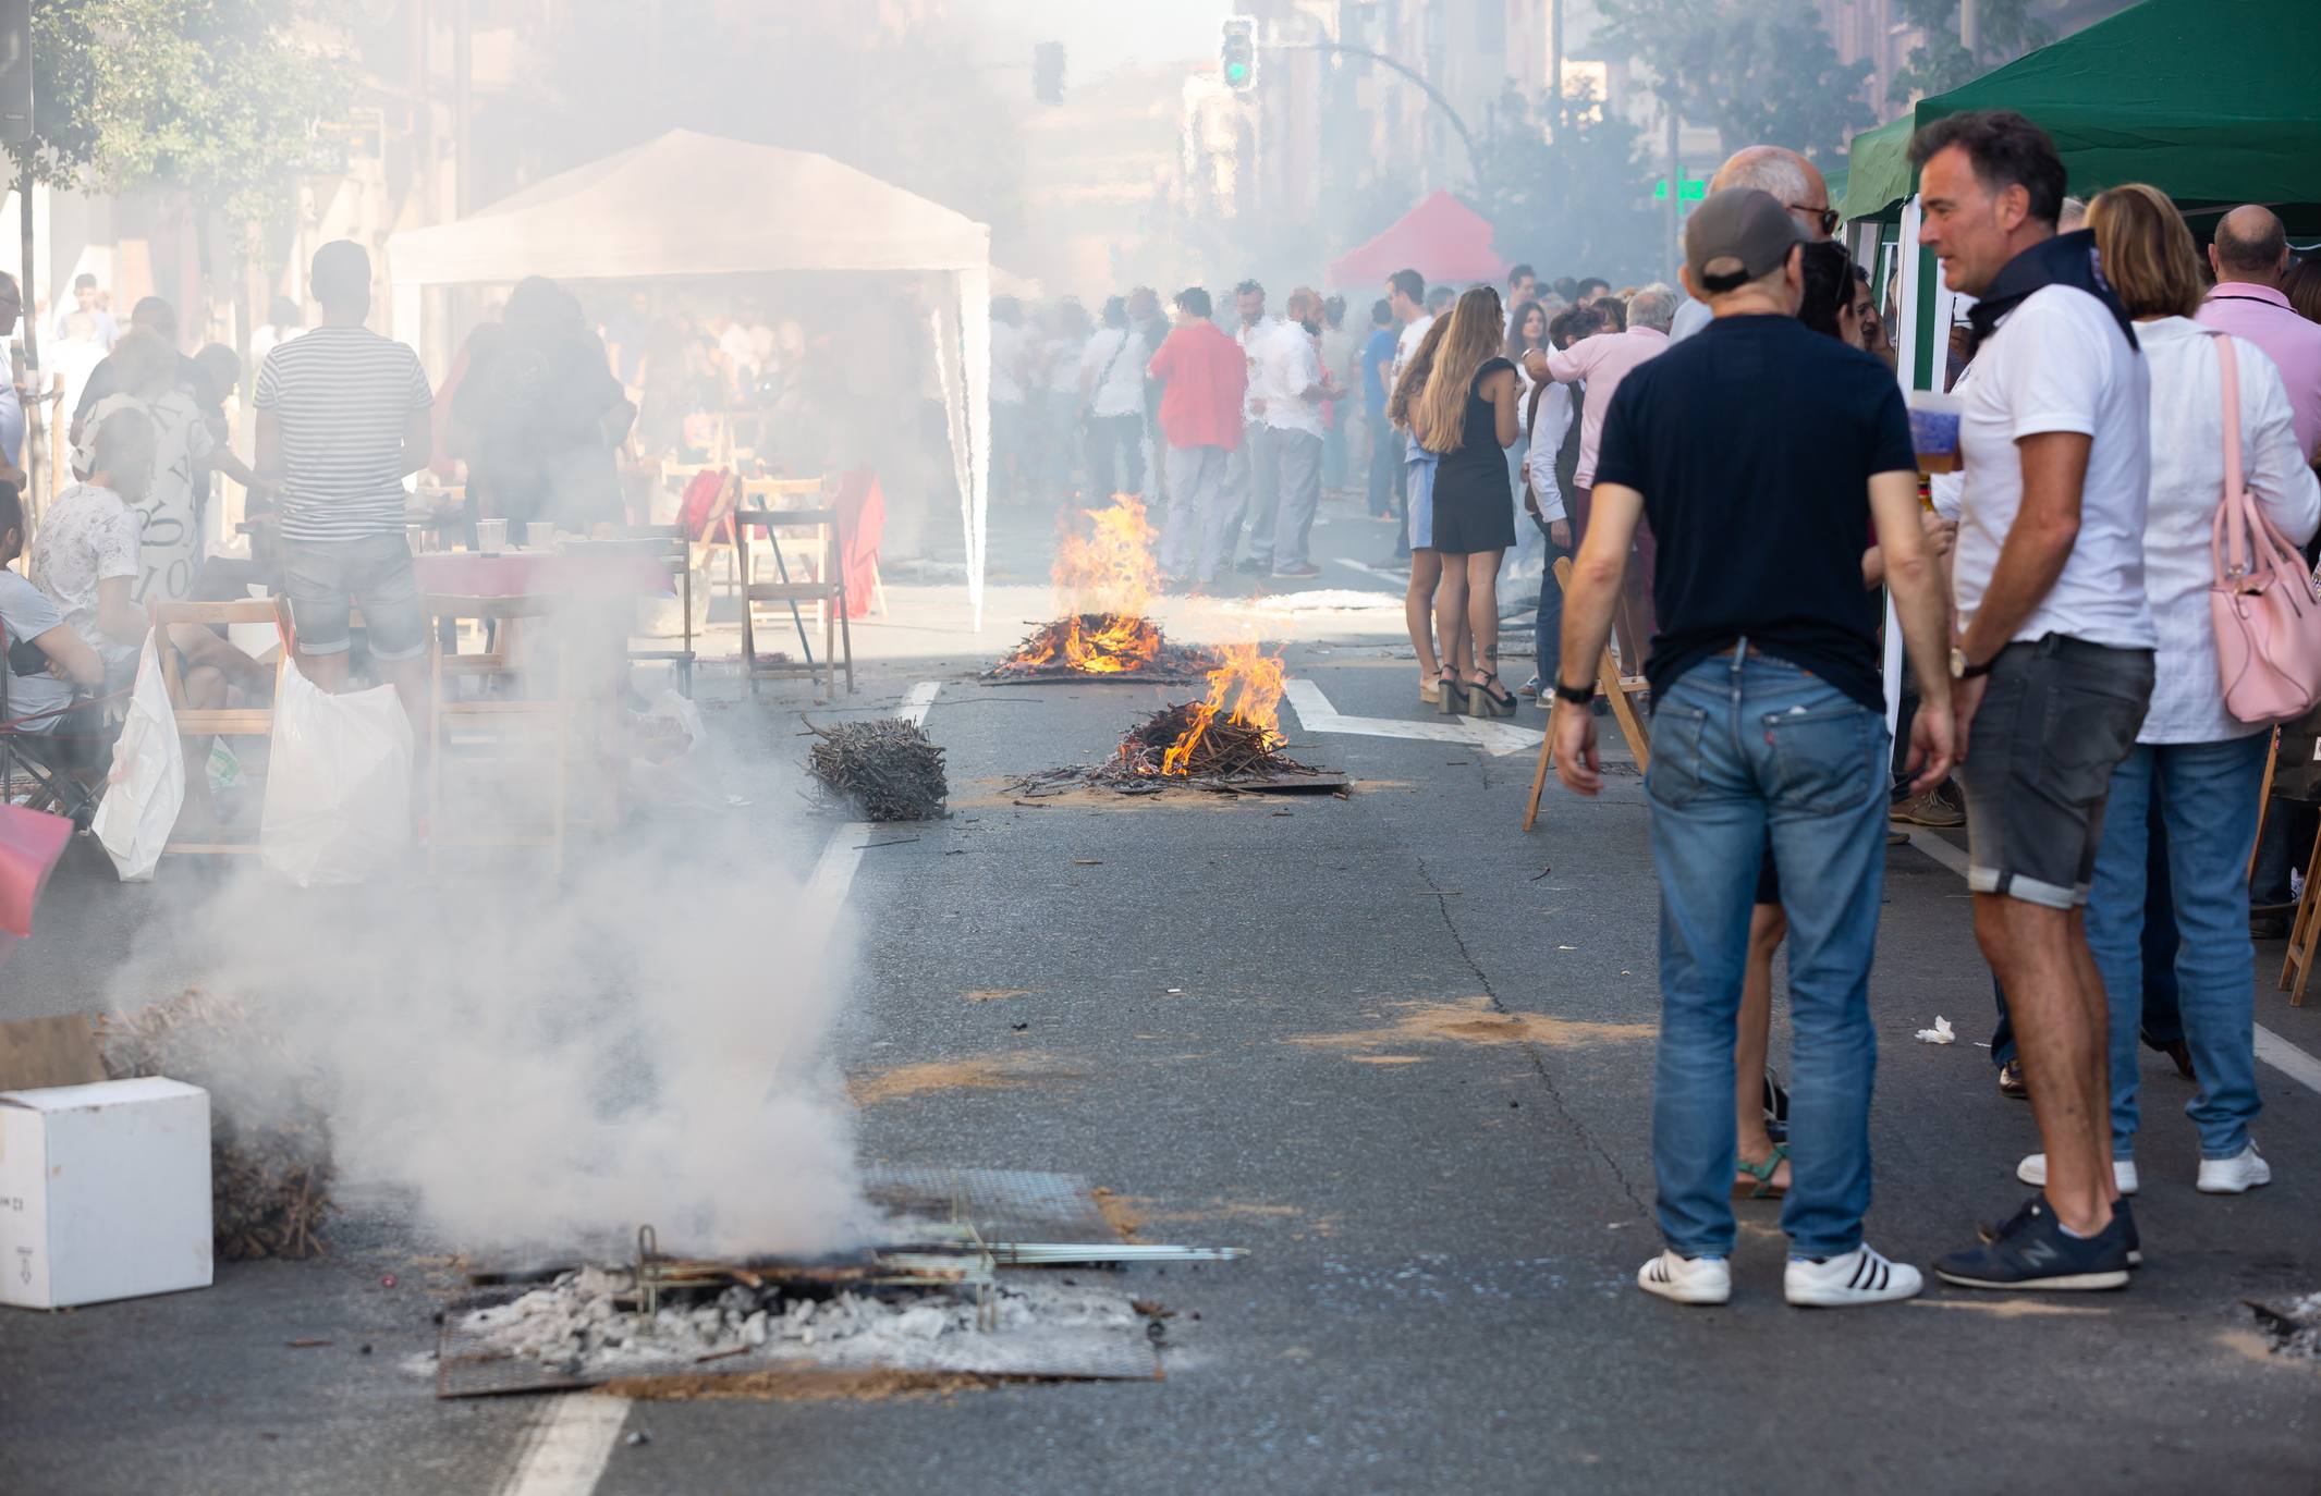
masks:
<svg viewBox="0 0 2321 1496"><path fill-rule="evenodd" d="M297 884L360 884L411 847L411 719L395 687L332 696L283 666L258 856Z"/></svg>

